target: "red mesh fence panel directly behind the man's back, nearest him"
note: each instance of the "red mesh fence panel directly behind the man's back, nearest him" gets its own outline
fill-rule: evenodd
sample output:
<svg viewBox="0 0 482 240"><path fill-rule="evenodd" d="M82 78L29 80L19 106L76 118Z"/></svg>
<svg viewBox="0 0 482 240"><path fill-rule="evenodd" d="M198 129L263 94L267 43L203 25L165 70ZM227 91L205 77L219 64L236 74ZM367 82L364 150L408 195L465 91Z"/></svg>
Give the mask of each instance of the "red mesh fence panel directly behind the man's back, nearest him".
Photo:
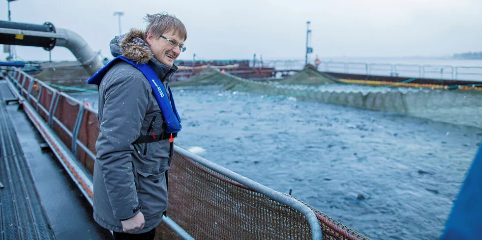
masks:
<svg viewBox="0 0 482 240"><path fill-rule="evenodd" d="M95 142L97 141L98 135L99 120L97 115L85 109L77 139L79 139L82 144L84 144L94 155L96 155L97 151L95 151ZM93 174L95 159L92 159L78 144L77 157L79 161L87 168L87 170L89 170L90 174Z"/></svg>

